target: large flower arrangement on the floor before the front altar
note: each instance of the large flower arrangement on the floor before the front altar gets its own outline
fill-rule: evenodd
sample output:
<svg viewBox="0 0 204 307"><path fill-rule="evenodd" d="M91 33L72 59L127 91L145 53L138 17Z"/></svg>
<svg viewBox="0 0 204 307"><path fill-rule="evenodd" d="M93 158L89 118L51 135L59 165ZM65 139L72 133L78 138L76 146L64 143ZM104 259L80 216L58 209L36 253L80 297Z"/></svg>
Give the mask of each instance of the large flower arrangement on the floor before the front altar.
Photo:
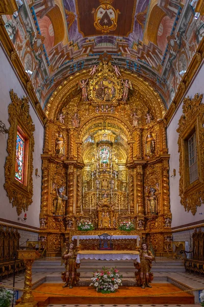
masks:
<svg viewBox="0 0 204 307"><path fill-rule="evenodd" d="M122 275L118 274L116 268L108 269L103 267L102 270L97 270L93 273L90 286L93 286L97 292L113 293L119 286L122 286Z"/></svg>

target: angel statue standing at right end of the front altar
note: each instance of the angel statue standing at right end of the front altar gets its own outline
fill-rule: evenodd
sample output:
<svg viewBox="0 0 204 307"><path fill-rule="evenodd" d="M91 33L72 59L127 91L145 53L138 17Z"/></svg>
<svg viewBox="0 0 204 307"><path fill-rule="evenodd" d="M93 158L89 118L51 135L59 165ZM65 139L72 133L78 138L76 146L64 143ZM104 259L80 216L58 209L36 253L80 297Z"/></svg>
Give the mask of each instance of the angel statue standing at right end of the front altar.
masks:
<svg viewBox="0 0 204 307"><path fill-rule="evenodd" d="M154 249L147 248L147 244L142 244L142 249L140 251L140 262L134 262L135 268L138 270L135 272L135 278L137 282L137 286L140 286L142 289L145 287L152 288L149 283L154 278L153 273L150 272L152 267L152 261L155 260Z"/></svg>

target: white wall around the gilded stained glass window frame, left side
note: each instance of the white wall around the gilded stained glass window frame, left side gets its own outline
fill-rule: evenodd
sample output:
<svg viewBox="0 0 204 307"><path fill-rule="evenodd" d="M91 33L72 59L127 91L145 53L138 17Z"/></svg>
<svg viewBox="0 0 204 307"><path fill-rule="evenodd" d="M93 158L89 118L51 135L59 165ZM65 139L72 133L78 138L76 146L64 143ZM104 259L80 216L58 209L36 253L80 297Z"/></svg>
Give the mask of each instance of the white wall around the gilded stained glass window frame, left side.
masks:
<svg viewBox="0 0 204 307"><path fill-rule="evenodd" d="M9 128L8 122L8 105L11 103L10 90L13 89L14 93L21 98L26 93L23 91L23 87L19 83L17 76L14 73L4 51L0 46L0 120L2 120L6 127ZM40 199L41 199L41 153L43 148L43 138L44 138L44 127L39 120L35 109L30 104L30 115L35 124L35 147L33 153L33 203L29 206L27 211L27 221L22 223L23 226L29 225L32 227L39 227L39 213L40 213ZM12 204L9 203L9 199L6 195L6 190L4 189L5 183L5 171L4 165L6 161L7 153L7 139L8 135L0 134L0 217L6 220L12 221L13 224L20 223L18 221L18 215L16 212L16 207L12 208ZM38 174L40 177L36 178L35 169L38 168ZM24 216L24 212L20 215ZM0 221L1 223L1 221Z"/></svg>

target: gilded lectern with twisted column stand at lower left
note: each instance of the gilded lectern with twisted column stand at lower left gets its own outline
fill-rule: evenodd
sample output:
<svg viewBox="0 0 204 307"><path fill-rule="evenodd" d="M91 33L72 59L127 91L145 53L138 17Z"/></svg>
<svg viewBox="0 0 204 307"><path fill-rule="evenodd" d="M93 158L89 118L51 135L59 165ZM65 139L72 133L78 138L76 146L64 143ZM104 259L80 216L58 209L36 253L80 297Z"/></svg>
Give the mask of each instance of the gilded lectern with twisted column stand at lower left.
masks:
<svg viewBox="0 0 204 307"><path fill-rule="evenodd" d="M21 302L18 304L18 307L35 307L37 306L38 302L34 301L34 297L31 291L32 264L35 259L40 257L40 254L35 250L18 250L17 253L18 259L23 259L25 265L24 288L23 294L21 296Z"/></svg>

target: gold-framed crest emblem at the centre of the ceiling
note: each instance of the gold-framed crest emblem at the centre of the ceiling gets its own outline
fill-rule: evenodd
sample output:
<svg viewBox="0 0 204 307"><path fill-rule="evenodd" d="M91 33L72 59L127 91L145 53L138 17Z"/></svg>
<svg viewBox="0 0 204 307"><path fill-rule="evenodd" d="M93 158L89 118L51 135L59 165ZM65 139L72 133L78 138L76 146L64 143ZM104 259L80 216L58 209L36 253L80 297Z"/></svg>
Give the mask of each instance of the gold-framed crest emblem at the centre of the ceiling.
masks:
<svg viewBox="0 0 204 307"><path fill-rule="evenodd" d="M117 28L117 19L120 14L118 9L112 6L113 0L99 0L100 5L93 9L94 27L102 33L115 31Z"/></svg>

